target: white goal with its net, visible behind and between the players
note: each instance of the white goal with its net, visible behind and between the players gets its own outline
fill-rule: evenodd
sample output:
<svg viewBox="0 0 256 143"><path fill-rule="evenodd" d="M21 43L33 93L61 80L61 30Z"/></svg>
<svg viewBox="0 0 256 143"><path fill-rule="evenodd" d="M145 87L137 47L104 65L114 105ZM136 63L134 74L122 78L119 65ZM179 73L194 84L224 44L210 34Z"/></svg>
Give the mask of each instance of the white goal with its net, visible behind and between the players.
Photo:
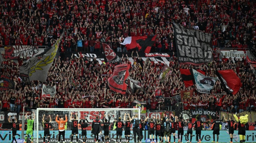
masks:
<svg viewBox="0 0 256 143"><path fill-rule="evenodd" d="M88 119L88 127L87 127L87 142L95 142L94 135L91 134L91 124L96 116L99 116L100 121L104 118L110 118L110 127L109 127L109 138L110 141L115 142L116 139L116 130L113 130L114 121L118 119L118 117L122 118L124 121L124 114L130 114L130 117L138 114L138 118L140 119L140 108L37 108L33 110L36 114L36 119L34 119L34 141L33 143L42 143L44 137L44 128L42 125L42 118L45 114L45 118L50 120L48 115L52 118L52 126L50 127L50 143L58 143L58 123L56 123L55 118L58 114L58 118L63 118L65 120L65 114L67 115L68 122L65 125L65 143L70 142L71 132L72 132L72 122L70 121L71 112L73 113L73 117L76 113L78 113L78 122L80 119ZM126 119L128 116L126 115ZM131 129L132 130L132 129ZM104 131L102 131L104 133ZM132 133L132 131L131 131ZM81 139L81 128L78 125L78 143L83 142ZM131 136L133 136L131 134ZM124 138L124 131L122 135L122 140ZM61 137L60 143L63 142ZM125 142L125 141L122 141ZM46 137L46 143L48 143L48 138ZM76 138L74 137L73 143L76 143Z"/></svg>

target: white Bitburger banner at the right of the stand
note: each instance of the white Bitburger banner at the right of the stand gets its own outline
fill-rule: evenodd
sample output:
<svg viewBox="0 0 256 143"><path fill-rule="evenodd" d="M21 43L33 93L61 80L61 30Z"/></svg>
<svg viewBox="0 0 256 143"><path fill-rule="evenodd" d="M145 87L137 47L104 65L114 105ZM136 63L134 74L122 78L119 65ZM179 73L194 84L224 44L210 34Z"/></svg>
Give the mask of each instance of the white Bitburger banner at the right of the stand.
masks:
<svg viewBox="0 0 256 143"><path fill-rule="evenodd" d="M234 59L235 57L236 59L242 59L243 57L245 59L247 55L247 51L220 50L220 52L223 56L226 56L226 58L231 57L232 59Z"/></svg>

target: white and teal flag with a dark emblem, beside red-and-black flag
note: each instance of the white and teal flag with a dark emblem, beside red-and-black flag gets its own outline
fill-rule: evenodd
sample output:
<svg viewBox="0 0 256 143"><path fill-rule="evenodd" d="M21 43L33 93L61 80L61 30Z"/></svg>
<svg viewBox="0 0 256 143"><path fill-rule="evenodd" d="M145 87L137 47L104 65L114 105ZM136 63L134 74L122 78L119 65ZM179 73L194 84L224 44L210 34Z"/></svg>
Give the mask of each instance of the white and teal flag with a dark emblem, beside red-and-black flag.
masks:
<svg viewBox="0 0 256 143"><path fill-rule="evenodd" d="M194 69L192 69L192 71L197 91L200 93L210 94L210 90L212 90L212 88L215 85L215 82L219 79L214 77L207 77Z"/></svg>

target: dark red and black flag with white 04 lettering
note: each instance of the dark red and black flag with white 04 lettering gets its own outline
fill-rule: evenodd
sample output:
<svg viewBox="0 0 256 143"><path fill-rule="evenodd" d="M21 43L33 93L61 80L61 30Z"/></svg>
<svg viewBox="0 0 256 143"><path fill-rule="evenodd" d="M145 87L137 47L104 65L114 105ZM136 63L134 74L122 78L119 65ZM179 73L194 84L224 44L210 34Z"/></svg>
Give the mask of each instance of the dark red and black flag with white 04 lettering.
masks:
<svg viewBox="0 0 256 143"><path fill-rule="evenodd" d="M109 63L121 63L121 59L116 55L113 49L106 43L102 43L102 49Z"/></svg>

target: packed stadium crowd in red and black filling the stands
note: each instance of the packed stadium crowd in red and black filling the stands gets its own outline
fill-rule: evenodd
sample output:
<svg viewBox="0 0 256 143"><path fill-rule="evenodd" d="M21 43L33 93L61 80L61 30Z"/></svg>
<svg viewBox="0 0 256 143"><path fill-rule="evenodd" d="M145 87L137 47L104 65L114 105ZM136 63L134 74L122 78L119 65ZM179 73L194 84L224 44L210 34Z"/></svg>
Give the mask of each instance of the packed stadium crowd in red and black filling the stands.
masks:
<svg viewBox="0 0 256 143"><path fill-rule="evenodd" d="M18 63L5 59L0 75L10 76L16 82L16 90L1 91L1 109L17 112L37 107L49 108L106 108L132 107L142 102L148 110L158 106L179 106L177 100L168 104L160 97L177 97L185 88L180 68L195 68L216 77L215 69L234 69L243 84L236 95L226 95L216 82L210 95L194 90L190 101L183 101L184 110L217 110L242 112L255 110L255 74L246 60L220 58L219 49L245 50L256 53L256 3L249 0L2 0L0 4L0 45L51 46L61 32L60 55L49 70L47 83L56 85L57 94L50 99L41 98L42 83L19 80ZM152 52L175 52L172 22L212 33L214 61L208 65L179 65L170 61L172 74L160 83L157 78L163 63L133 57L130 76L142 83L144 92L126 95L106 88L107 79L114 65L100 65L96 59L63 57L65 52L100 51L100 38L116 52L127 52L120 42L128 36L157 35ZM136 51L133 55L136 55ZM128 63L122 58L122 63ZM75 86L78 84L77 86ZM194 87L193 87L194 88ZM169 101L169 100L168 100Z"/></svg>

